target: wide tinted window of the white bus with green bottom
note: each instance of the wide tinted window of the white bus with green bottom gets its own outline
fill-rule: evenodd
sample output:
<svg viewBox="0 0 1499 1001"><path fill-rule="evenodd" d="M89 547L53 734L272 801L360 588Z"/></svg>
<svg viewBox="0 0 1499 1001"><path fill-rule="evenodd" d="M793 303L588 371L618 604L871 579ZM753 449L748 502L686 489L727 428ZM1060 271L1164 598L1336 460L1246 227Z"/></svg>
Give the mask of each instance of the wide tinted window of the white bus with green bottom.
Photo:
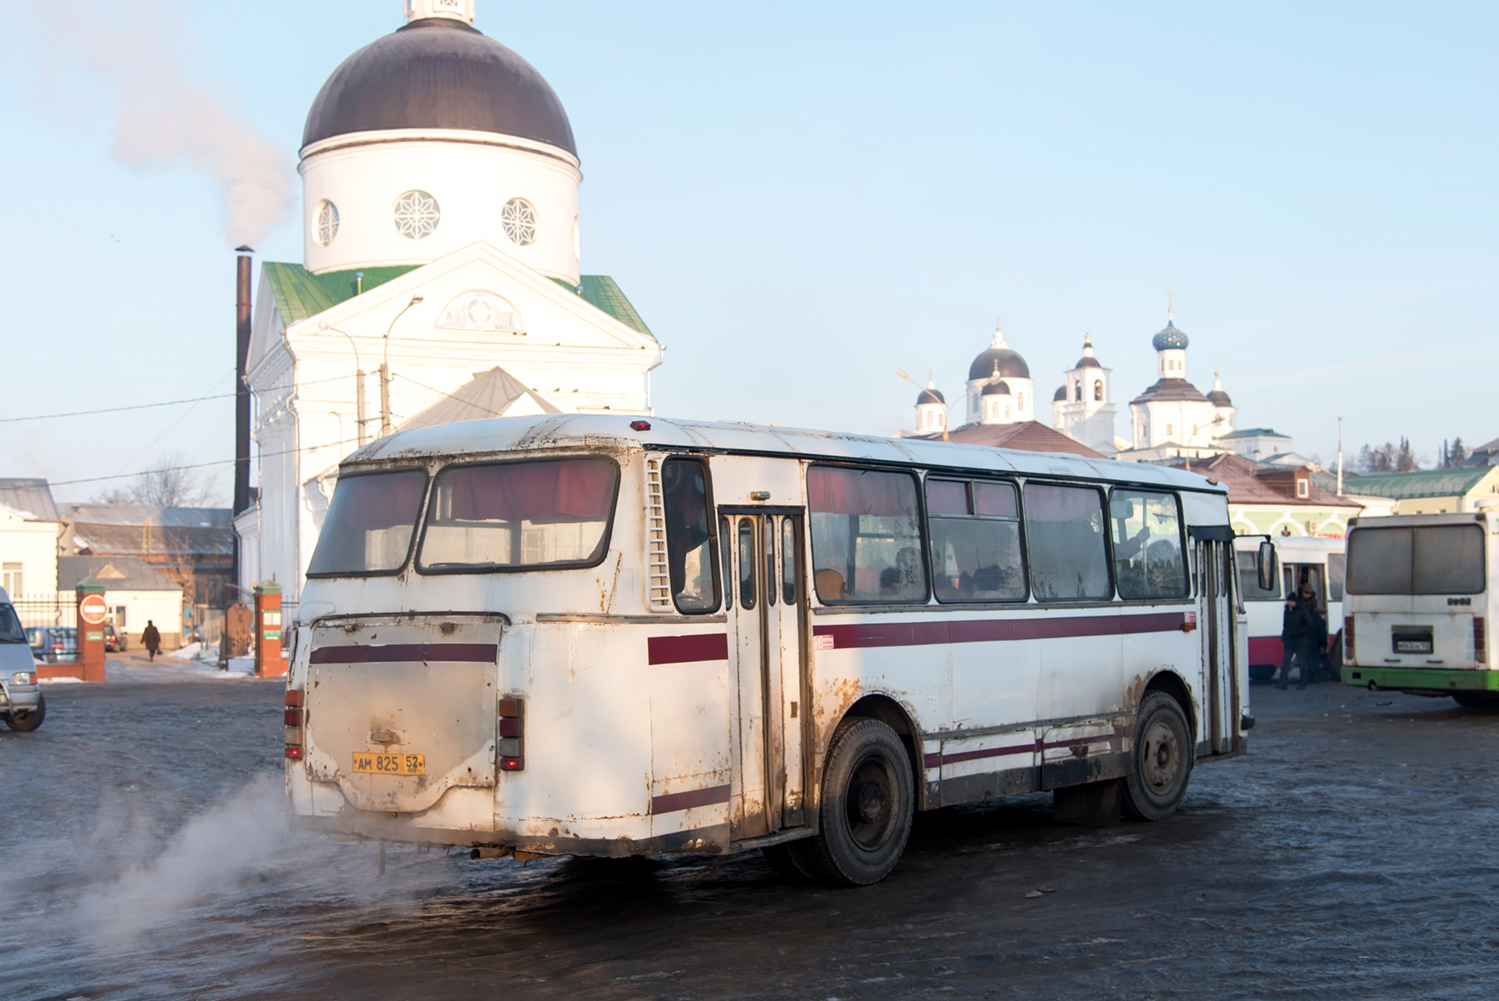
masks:
<svg viewBox="0 0 1499 1001"><path fill-rule="evenodd" d="M1351 595L1474 595L1484 589L1478 524L1355 529L1348 536Z"/></svg>

